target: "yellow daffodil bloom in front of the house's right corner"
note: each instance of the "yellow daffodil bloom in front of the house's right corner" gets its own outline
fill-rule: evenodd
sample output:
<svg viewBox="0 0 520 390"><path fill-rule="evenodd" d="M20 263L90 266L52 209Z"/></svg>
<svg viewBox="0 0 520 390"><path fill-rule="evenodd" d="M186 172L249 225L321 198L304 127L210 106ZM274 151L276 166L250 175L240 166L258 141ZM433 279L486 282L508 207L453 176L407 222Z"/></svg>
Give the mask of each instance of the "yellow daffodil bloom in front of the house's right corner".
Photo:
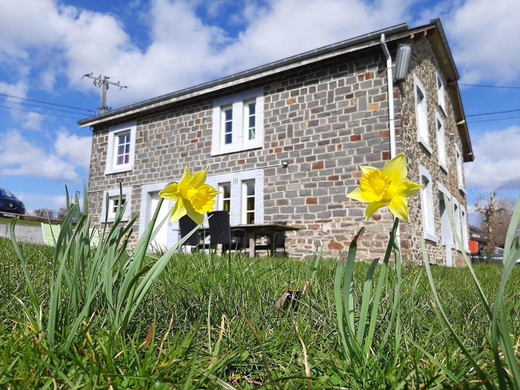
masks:
<svg viewBox="0 0 520 390"><path fill-rule="evenodd" d="M385 164L382 171L373 166L359 168L363 173L359 187L347 194L347 197L368 203L366 220L381 207L388 205L388 209L397 218L410 222L406 198L419 191L422 186L406 178L408 170L405 154L396 155Z"/></svg>

